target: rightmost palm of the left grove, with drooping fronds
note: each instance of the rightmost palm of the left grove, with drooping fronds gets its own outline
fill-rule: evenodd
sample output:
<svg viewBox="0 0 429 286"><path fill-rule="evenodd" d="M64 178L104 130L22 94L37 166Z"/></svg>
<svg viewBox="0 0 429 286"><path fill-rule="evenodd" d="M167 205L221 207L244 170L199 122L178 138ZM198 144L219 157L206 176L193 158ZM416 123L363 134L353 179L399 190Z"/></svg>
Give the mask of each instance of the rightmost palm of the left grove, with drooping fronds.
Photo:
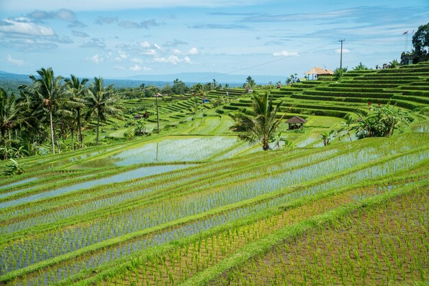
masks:
<svg viewBox="0 0 429 286"><path fill-rule="evenodd" d="M100 121L106 122L107 115L114 115L120 118L121 110L114 107L117 98L113 94L113 86L107 88L103 85L103 78L94 78L94 82L88 89L87 106L89 108L86 113L88 120L92 115L97 116L97 145L99 142L99 126Z"/></svg>

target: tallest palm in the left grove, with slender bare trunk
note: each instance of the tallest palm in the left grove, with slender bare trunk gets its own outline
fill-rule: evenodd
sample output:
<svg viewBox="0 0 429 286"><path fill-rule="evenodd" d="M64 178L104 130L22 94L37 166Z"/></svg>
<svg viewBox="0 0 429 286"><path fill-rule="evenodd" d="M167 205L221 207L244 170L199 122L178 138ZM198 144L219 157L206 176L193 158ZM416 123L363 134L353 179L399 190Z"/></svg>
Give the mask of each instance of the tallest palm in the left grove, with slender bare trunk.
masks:
<svg viewBox="0 0 429 286"><path fill-rule="evenodd" d="M42 68L37 71L39 78L34 75L30 75L29 78L33 81L34 93L42 100L42 106L49 112L49 125L51 126L51 141L52 141L52 153L55 154L55 143L54 136L55 130L53 128L53 112L55 112L64 99L64 87L61 84L62 77L55 77L51 67L45 69ZM58 144L57 144L58 145ZM60 153L60 147L58 146L58 152Z"/></svg>

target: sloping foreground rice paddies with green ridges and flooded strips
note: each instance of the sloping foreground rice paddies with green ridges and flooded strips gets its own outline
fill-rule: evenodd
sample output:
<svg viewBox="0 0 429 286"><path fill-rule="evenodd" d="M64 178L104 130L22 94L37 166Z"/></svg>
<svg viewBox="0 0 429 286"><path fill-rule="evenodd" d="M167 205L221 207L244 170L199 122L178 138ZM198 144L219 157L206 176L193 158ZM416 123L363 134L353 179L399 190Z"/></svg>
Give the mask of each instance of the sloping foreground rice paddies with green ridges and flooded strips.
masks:
<svg viewBox="0 0 429 286"><path fill-rule="evenodd" d="M231 136L155 136L27 158L25 174L1 177L0 283L271 285L293 276L312 285L326 276L328 285L345 274L360 281L363 271L382 284L427 281L428 136L226 160L241 148ZM394 228L380 237L386 224ZM350 244L332 270L332 243L364 231L367 247ZM305 241L325 251L310 254ZM301 258L279 263L274 251ZM261 255L272 271L258 264Z"/></svg>

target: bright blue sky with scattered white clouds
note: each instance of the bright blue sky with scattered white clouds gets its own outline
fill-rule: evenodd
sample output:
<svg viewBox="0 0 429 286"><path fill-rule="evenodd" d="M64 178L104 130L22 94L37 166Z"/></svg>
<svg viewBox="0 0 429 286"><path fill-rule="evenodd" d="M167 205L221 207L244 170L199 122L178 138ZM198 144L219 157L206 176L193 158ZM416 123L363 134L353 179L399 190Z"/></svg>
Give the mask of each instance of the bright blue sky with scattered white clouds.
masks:
<svg viewBox="0 0 429 286"><path fill-rule="evenodd" d="M400 60L428 20L428 0L0 0L0 71L302 77L339 67L339 40L349 69Z"/></svg>

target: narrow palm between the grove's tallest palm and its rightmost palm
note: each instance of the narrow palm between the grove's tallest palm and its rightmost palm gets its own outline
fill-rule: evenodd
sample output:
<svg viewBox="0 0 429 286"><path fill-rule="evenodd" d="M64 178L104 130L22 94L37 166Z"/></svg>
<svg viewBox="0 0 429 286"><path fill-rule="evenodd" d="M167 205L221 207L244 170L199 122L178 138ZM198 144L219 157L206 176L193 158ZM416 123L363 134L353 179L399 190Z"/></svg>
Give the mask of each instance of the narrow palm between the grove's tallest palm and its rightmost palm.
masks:
<svg viewBox="0 0 429 286"><path fill-rule="evenodd" d="M70 75L70 79L66 78L66 88L69 89L69 92L71 93L71 101L76 102L77 104L82 104L82 106L77 106L73 108L76 110L76 123L77 123L77 130L76 130L76 139L77 142L80 142L80 147L83 145L83 139L82 139L82 125L80 123L80 111L82 107L84 107L85 99L84 96L86 94L87 88L86 83L88 82L87 78L84 78L83 80L79 80L75 75ZM71 130L71 141L73 145L73 129Z"/></svg>

